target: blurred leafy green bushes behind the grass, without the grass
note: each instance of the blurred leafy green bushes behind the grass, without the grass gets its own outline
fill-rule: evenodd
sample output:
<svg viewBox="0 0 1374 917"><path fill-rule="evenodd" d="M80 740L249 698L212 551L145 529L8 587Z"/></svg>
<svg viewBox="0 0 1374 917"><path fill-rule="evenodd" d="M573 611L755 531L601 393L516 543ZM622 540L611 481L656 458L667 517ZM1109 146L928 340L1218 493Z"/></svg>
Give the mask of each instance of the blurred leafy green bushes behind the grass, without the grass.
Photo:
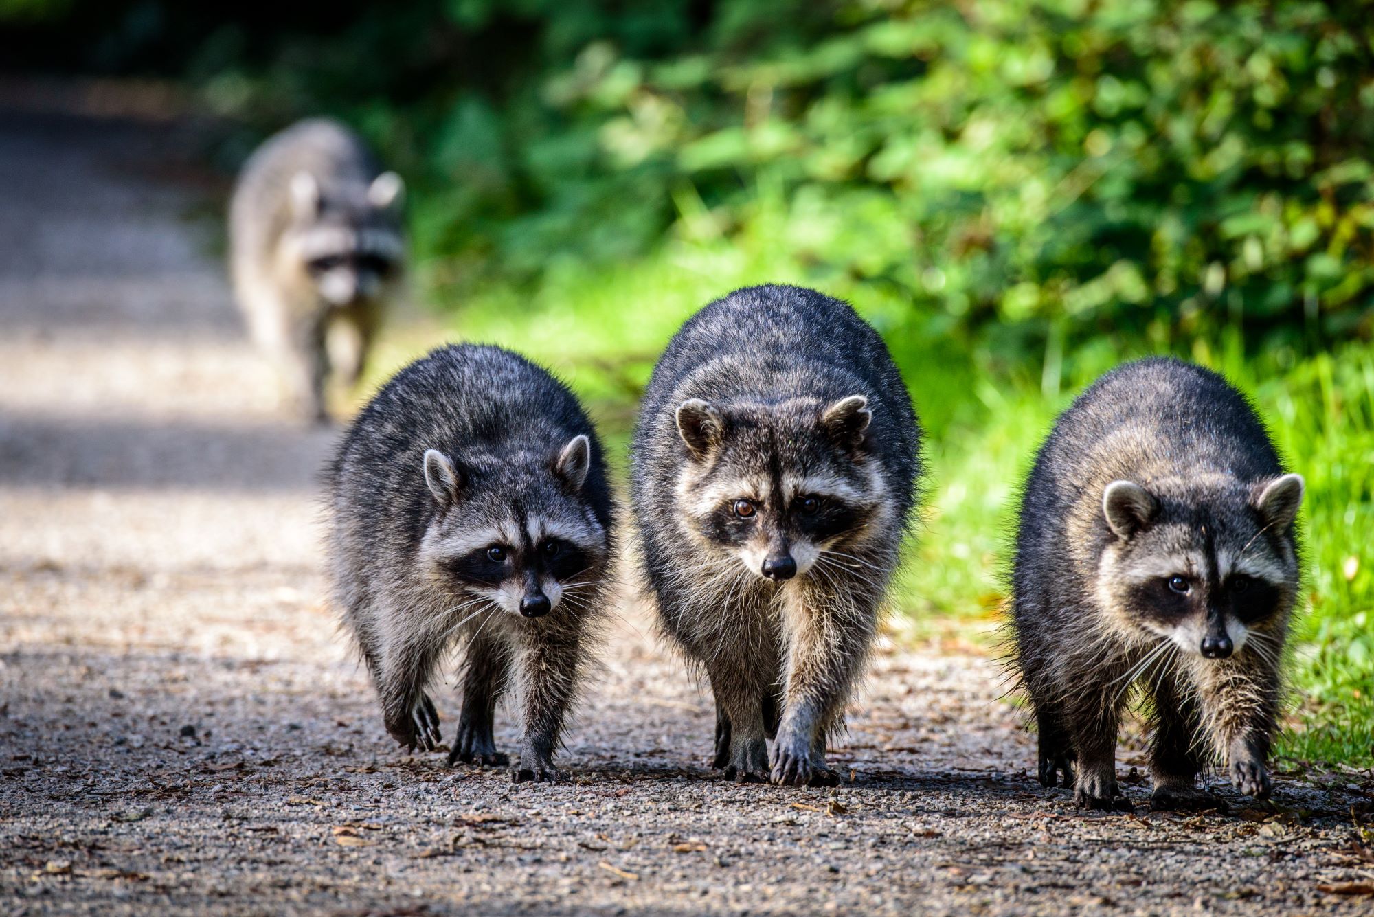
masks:
<svg viewBox="0 0 1374 917"><path fill-rule="evenodd" d="M92 5L7 4L49 25ZM111 67L157 60L261 130L359 125L418 185L441 287L767 218L816 284L1009 358L1374 332L1366 0L99 10Z"/></svg>

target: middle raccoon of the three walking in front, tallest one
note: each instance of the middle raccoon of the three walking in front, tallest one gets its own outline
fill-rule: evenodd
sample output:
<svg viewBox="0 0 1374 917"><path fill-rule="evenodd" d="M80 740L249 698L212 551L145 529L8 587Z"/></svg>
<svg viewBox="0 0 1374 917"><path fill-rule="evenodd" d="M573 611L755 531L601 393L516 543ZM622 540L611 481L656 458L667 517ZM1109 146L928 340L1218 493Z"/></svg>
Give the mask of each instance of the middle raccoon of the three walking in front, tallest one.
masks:
<svg viewBox="0 0 1374 917"><path fill-rule="evenodd" d="M882 339L812 290L738 290L654 368L631 456L642 571L661 630L710 682L713 763L738 782L837 782L826 741L878 625L919 445Z"/></svg>

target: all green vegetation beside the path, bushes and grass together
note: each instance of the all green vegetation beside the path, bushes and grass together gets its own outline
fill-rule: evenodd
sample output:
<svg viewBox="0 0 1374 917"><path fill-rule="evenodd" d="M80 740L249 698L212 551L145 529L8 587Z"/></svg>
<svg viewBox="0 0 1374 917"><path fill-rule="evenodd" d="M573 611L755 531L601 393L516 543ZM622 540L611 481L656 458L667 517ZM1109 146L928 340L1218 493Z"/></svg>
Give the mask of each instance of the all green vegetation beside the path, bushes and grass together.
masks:
<svg viewBox="0 0 1374 917"><path fill-rule="evenodd" d="M555 367L620 443L709 299L853 302L930 432L912 638L989 642L1015 480L1073 393L1146 353L1221 369L1309 487L1285 751L1374 761L1374 3L0 0L0 22L7 70L183 86L235 125L225 172L301 115L356 126L409 183L422 299Z"/></svg>

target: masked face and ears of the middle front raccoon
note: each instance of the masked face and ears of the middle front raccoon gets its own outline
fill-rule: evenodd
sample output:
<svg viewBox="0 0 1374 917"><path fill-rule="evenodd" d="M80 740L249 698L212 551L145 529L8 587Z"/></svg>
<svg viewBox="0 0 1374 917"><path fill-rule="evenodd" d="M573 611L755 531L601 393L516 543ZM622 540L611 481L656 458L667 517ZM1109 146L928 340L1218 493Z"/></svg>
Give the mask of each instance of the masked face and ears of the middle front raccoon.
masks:
<svg viewBox="0 0 1374 917"><path fill-rule="evenodd" d="M688 531L774 582L852 568L845 549L886 507L866 448L871 416L863 395L829 405L684 401L677 431L690 461L677 501Z"/></svg>

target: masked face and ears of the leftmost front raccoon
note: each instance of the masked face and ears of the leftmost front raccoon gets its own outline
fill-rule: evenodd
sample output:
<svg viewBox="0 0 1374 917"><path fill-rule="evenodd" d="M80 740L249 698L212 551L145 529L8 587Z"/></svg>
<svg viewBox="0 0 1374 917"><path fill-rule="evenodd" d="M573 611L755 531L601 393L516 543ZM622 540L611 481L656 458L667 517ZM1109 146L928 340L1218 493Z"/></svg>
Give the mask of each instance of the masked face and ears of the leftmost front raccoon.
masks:
<svg viewBox="0 0 1374 917"><path fill-rule="evenodd" d="M580 497L591 467L587 437L545 461L503 458L458 464L437 449L425 453L437 504L420 544L430 581L478 611L543 618L561 605L581 608L607 552L606 531Z"/></svg>

